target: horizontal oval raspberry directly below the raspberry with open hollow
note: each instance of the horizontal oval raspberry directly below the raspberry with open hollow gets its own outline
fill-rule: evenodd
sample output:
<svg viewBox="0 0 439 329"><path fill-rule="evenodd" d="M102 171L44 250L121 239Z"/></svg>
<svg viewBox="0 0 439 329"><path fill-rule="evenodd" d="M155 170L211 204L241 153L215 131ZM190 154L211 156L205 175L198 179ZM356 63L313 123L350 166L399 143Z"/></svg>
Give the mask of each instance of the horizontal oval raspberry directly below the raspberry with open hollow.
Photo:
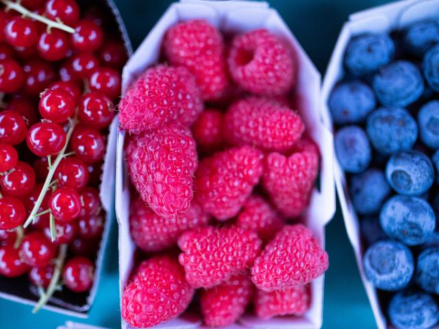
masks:
<svg viewBox="0 0 439 329"><path fill-rule="evenodd" d="M305 131L300 116L278 101L248 97L233 103L224 117L228 141L264 151L287 151Z"/></svg>

